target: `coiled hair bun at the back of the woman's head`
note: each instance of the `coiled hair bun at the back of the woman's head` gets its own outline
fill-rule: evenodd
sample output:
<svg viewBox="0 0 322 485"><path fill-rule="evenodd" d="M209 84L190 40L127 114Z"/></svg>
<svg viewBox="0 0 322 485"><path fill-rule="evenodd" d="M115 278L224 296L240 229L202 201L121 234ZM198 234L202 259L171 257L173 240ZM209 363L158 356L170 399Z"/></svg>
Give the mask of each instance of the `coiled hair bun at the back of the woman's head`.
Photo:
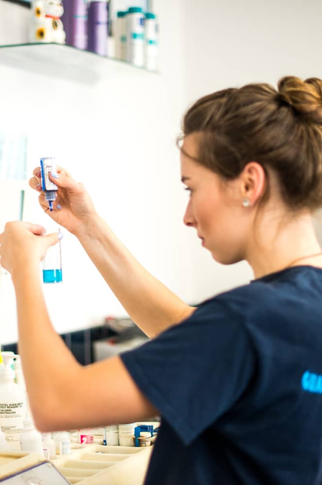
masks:
<svg viewBox="0 0 322 485"><path fill-rule="evenodd" d="M322 125L321 79L302 81L295 76L286 76L279 80L277 89L277 99L281 104L291 106L305 121Z"/></svg>

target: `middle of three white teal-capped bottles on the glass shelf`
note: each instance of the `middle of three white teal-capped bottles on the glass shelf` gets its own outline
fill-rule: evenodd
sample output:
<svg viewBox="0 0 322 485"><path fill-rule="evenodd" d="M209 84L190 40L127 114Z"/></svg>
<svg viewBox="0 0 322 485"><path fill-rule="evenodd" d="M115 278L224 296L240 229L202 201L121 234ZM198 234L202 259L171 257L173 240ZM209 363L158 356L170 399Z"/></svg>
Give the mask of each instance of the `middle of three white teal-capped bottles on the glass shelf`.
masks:
<svg viewBox="0 0 322 485"><path fill-rule="evenodd" d="M144 21L141 7L130 7L127 19L127 60L144 67Z"/></svg>

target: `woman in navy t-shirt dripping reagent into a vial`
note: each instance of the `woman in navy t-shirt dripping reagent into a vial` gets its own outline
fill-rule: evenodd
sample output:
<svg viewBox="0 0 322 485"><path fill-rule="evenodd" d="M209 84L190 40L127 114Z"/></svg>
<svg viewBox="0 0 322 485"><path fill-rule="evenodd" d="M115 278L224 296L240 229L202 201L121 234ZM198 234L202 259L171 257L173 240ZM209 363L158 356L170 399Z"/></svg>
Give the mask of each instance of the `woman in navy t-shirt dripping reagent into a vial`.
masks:
<svg viewBox="0 0 322 485"><path fill-rule="evenodd" d="M189 307L59 169L54 211L43 194L41 206L78 237L151 340L79 365L49 321L39 281L39 261L58 235L8 223L1 264L16 289L36 425L64 430L160 413L146 484L321 484L322 250L311 214L322 205L322 81L286 77L277 91L251 84L203 97L185 114L178 144L190 192L184 223L217 261L247 260L255 279ZM38 191L39 177L37 168L30 185Z"/></svg>

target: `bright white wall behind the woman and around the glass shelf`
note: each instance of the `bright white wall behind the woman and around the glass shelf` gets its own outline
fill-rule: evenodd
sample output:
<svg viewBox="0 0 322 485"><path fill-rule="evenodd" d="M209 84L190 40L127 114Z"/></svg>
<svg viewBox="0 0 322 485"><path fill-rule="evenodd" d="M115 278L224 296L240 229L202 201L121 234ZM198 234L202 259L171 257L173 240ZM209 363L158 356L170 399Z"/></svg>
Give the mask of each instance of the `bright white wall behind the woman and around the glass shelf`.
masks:
<svg viewBox="0 0 322 485"><path fill-rule="evenodd" d="M9 5L0 0L0 32L4 12L10 20ZM227 86L274 83L286 74L321 77L322 5L155 0L154 9L161 26L158 76L109 61L103 70L95 62L82 69L73 58L63 73L59 58L47 63L46 75L38 61L12 67L0 51L0 130L28 127L30 170L40 156L55 155L86 184L97 209L147 269L185 301L197 302L247 282L252 273L245 263L213 262L182 224L186 194L174 143L181 115L197 97ZM32 220L46 224L32 193L28 204ZM123 315L68 234L63 251L64 283L45 288L56 329ZM16 340L14 308L6 276L0 343Z"/></svg>

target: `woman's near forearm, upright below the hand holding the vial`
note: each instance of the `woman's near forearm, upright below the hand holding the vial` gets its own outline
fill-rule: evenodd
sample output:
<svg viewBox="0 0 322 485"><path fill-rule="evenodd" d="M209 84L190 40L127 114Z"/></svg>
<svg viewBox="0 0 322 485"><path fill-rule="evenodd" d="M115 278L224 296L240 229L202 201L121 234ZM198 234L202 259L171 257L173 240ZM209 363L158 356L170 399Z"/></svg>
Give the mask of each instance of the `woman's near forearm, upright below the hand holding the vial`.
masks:
<svg viewBox="0 0 322 485"><path fill-rule="evenodd" d="M15 291L21 355L29 401L36 424L60 413L66 389L74 383L81 366L56 334L48 316L39 264L21 266L12 274ZM44 365L46 363L46 365Z"/></svg>

